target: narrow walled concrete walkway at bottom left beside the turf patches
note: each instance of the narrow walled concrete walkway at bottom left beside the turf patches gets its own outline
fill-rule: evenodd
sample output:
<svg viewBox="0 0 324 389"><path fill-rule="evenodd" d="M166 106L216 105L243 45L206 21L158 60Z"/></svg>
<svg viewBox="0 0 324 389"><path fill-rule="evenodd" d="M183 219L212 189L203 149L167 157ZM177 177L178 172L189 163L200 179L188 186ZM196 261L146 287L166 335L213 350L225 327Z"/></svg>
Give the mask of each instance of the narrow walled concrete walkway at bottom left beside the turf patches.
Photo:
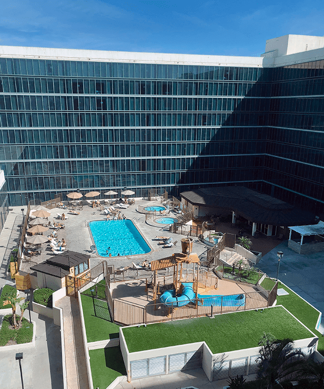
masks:
<svg viewBox="0 0 324 389"><path fill-rule="evenodd" d="M63 310L68 389L89 389L78 300L65 296L55 303Z"/></svg>

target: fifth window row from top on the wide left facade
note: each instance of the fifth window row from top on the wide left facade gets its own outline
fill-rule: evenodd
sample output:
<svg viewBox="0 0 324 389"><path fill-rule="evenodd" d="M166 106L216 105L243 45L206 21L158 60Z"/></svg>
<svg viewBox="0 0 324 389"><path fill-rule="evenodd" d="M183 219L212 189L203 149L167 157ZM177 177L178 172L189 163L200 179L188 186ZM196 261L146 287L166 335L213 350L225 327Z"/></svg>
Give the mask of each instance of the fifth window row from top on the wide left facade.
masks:
<svg viewBox="0 0 324 389"><path fill-rule="evenodd" d="M0 128L0 144L125 143L266 139L266 128Z"/></svg>

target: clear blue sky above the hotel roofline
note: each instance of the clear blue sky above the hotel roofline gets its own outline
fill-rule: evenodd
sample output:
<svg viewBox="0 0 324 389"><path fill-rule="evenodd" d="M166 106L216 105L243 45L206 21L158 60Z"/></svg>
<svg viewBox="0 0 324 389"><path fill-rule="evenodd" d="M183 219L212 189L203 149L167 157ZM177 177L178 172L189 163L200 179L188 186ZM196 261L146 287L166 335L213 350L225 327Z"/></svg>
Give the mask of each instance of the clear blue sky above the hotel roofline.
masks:
<svg viewBox="0 0 324 389"><path fill-rule="evenodd" d="M266 39L324 35L323 4L323 0L2 0L0 44L259 56Z"/></svg>

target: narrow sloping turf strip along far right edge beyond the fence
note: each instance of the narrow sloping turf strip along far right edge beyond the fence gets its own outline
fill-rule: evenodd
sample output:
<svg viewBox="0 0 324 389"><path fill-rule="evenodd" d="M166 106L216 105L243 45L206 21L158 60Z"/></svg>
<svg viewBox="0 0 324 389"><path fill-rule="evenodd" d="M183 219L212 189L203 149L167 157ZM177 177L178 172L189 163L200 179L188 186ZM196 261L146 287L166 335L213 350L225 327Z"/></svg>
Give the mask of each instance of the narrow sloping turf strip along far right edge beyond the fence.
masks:
<svg viewBox="0 0 324 389"><path fill-rule="evenodd" d="M285 289L289 295L277 296L277 305L282 305L319 337L318 351L324 355L324 337L315 329L320 313L300 298L295 292L279 283L278 288Z"/></svg>

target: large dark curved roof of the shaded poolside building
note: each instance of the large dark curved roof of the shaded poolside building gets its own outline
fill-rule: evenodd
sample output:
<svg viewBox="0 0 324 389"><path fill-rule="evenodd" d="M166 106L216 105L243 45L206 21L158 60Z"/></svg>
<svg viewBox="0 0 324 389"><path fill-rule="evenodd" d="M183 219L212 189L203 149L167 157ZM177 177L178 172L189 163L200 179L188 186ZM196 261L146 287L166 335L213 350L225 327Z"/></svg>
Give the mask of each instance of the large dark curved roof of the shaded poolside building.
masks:
<svg viewBox="0 0 324 389"><path fill-rule="evenodd" d="M255 223L296 226L315 220L315 215L308 211L243 186L200 188L180 196L193 205L234 211Z"/></svg>

